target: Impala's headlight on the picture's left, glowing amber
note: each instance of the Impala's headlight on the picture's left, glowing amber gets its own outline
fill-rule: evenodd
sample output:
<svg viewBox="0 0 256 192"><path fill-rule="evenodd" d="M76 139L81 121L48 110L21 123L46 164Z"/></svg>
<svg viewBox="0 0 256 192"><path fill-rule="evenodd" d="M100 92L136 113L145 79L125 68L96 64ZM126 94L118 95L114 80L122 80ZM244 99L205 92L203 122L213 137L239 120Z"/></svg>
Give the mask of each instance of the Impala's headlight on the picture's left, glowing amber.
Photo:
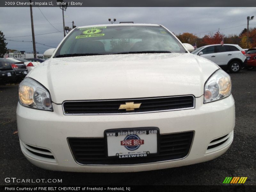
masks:
<svg viewBox="0 0 256 192"><path fill-rule="evenodd" d="M25 78L19 86L20 104L30 108L53 111L49 91L32 78Z"/></svg>

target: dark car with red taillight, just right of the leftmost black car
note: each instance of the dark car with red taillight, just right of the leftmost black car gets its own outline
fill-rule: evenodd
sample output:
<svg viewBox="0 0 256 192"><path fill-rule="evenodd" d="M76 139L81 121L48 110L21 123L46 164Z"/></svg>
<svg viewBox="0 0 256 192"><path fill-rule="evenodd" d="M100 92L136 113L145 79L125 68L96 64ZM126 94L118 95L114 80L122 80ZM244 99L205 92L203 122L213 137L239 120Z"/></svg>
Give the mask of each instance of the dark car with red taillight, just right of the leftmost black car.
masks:
<svg viewBox="0 0 256 192"><path fill-rule="evenodd" d="M20 82L28 74L28 69L24 62L14 62L8 59L0 58L1 61L8 62L15 72L15 82Z"/></svg>

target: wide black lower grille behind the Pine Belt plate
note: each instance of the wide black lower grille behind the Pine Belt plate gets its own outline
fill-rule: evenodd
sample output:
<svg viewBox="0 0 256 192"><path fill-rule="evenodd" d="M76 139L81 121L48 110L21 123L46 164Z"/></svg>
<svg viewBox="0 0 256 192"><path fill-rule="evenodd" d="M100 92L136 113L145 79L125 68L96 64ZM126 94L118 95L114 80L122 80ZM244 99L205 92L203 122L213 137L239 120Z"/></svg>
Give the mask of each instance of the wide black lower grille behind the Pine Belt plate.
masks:
<svg viewBox="0 0 256 192"><path fill-rule="evenodd" d="M188 155L194 131L160 135L160 151L156 156L138 158L108 158L104 138L68 138L71 152L79 164L125 165L180 159Z"/></svg>

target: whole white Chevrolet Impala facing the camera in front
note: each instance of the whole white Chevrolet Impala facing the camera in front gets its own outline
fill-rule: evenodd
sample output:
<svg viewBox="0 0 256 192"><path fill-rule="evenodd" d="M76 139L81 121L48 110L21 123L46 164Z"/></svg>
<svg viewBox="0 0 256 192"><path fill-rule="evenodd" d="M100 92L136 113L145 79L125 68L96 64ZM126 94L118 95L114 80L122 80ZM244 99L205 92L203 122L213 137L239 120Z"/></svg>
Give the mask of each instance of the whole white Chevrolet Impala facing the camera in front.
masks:
<svg viewBox="0 0 256 192"><path fill-rule="evenodd" d="M73 29L19 86L20 147L36 166L138 172L196 164L233 141L229 75L168 29Z"/></svg>

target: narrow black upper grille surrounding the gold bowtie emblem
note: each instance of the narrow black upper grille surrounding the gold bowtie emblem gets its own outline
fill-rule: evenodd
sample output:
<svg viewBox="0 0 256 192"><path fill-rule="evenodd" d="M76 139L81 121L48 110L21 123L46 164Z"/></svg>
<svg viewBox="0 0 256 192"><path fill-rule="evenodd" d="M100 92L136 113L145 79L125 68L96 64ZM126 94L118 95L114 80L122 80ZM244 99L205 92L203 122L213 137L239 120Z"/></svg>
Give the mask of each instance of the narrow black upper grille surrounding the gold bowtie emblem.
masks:
<svg viewBox="0 0 256 192"><path fill-rule="evenodd" d="M154 97L141 99L65 101L65 115L147 113L194 108L194 96ZM133 110L119 109L127 103L137 104ZM140 105L138 105L140 104Z"/></svg>

